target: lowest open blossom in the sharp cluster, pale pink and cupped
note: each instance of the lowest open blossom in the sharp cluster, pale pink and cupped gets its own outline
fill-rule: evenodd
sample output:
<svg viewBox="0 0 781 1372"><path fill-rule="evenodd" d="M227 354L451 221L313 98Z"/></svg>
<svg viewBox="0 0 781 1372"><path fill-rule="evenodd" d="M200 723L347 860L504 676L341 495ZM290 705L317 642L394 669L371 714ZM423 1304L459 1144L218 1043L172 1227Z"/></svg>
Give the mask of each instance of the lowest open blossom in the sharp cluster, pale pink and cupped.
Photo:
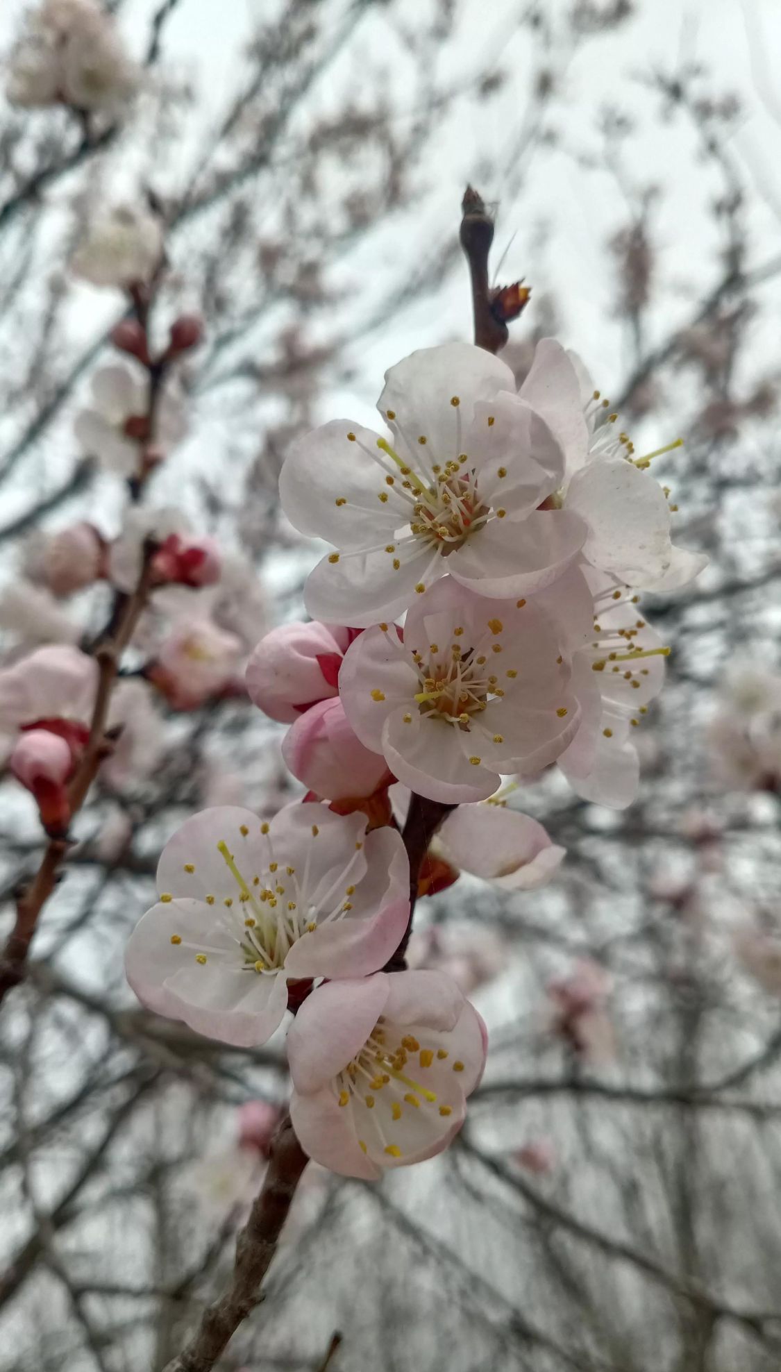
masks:
<svg viewBox="0 0 781 1372"><path fill-rule="evenodd" d="M432 1158L464 1122L486 1048L483 1021L441 973L320 986L287 1039L290 1113L303 1151L371 1180Z"/></svg>

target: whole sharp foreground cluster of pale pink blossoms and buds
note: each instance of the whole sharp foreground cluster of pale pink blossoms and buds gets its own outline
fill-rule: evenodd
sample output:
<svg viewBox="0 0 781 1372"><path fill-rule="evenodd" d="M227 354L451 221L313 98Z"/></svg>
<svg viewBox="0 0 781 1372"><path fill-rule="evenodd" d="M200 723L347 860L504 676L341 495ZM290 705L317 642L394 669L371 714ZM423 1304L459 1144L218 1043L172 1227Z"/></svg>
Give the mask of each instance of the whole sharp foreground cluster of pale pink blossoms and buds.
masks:
<svg viewBox="0 0 781 1372"><path fill-rule="evenodd" d="M126 954L147 1006L211 1037L265 1043L292 1011L295 1131L358 1177L445 1148L485 1065L456 959L431 947L432 969L399 970L412 900L461 870L552 878L563 849L508 808L513 778L557 764L585 799L631 801L631 729L667 653L638 591L701 565L671 543L655 454L634 456L553 340L520 394L476 347L413 354L379 409L390 438L325 424L280 476L287 517L334 552L306 584L312 622L262 638L246 682L290 726L306 794L268 822L187 820ZM412 804L442 820L420 873L399 831ZM556 1033L592 1054L609 1051L594 975L550 988Z"/></svg>

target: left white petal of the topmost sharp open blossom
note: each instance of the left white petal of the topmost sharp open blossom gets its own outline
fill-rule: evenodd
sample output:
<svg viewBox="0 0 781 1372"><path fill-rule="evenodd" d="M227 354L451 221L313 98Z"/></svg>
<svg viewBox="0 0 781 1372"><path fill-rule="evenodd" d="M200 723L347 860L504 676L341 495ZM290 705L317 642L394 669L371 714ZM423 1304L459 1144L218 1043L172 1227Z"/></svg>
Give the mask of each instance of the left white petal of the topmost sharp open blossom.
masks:
<svg viewBox="0 0 781 1372"><path fill-rule="evenodd" d="M386 483L382 462L402 477L377 449L377 438L350 420L332 420L292 445L279 488L294 528L345 549L393 541L394 530L409 520L410 505Z"/></svg>

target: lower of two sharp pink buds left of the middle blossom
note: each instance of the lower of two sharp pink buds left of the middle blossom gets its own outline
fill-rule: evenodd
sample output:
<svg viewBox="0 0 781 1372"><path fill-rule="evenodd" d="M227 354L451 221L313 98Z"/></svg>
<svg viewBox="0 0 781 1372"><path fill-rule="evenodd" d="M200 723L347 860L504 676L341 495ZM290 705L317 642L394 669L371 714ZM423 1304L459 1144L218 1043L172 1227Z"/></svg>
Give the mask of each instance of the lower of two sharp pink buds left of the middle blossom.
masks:
<svg viewBox="0 0 781 1372"><path fill-rule="evenodd" d="M327 800L373 796L391 774L353 733L340 700L321 700L301 715L281 745L294 777Z"/></svg>

